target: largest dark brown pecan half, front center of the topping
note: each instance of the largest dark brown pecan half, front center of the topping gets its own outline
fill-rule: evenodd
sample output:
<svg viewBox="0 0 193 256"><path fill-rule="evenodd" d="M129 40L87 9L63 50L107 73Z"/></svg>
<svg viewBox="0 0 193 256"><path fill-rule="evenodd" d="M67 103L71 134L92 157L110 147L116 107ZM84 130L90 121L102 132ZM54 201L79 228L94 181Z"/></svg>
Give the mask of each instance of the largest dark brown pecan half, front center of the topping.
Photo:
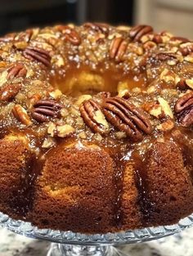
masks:
<svg viewBox="0 0 193 256"><path fill-rule="evenodd" d="M111 97L104 101L103 113L115 128L125 132L133 141L141 141L143 133L152 131L145 112L121 97Z"/></svg>

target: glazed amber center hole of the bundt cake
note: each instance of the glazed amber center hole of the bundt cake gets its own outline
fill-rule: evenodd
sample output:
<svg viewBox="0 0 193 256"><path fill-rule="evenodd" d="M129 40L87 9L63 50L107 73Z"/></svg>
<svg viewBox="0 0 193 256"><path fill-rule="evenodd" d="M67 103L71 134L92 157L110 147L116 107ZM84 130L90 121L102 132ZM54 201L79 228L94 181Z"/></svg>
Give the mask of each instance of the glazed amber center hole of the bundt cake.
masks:
<svg viewBox="0 0 193 256"><path fill-rule="evenodd" d="M115 96L120 91L141 87L141 81L134 81L131 76L125 77L121 72L115 73L110 70L105 72L70 70L65 74L65 78L56 79L54 86L71 97L79 97L83 94L93 96L99 92L110 92L111 96Z"/></svg>

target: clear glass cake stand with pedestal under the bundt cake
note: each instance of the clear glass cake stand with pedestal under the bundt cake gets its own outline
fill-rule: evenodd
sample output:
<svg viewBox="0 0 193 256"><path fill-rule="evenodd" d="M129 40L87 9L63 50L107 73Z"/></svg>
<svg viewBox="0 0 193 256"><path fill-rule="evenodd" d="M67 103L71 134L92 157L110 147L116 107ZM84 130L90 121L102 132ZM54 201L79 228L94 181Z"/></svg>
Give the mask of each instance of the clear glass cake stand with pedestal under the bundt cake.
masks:
<svg viewBox="0 0 193 256"><path fill-rule="evenodd" d="M88 236L71 231L38 229L38 227L33 227L29 222L15 221L2 213L0 213L0 227L7 227L8 230L22 236L52 242L47 256L125 255L116 246L155 240L173 235L188 227L193 227L193 214L173 226L151 227L105 235Z"/></svg>

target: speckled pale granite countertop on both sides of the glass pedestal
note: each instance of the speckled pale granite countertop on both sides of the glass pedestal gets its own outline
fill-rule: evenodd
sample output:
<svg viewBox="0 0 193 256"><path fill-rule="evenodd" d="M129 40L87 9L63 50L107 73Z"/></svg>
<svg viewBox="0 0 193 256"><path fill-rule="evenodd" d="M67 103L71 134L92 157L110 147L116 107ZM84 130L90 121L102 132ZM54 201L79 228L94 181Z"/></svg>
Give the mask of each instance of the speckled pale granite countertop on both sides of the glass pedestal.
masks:
<svg viewBox="0 0 193 256"><path fill-rule="evenodd" d="M49 245L0 228L0 256L46 256ZM131 256L193 256L193 228L160 240L124 245L123 250Z"/></svg>

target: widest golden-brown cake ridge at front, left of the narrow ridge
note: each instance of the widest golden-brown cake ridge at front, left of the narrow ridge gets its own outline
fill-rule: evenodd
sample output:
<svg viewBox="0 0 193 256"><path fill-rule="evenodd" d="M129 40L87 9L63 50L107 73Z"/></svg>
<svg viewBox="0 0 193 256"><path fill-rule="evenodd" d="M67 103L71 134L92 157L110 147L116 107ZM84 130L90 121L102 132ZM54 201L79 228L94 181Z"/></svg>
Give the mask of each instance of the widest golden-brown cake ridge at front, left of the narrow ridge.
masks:
<svg viewBox="0 0 193 256"><path fill-rule="evenodd" d="M113 229L113 159L101 149L53 151L35 190L34 224L81 232Z"/></svg>

